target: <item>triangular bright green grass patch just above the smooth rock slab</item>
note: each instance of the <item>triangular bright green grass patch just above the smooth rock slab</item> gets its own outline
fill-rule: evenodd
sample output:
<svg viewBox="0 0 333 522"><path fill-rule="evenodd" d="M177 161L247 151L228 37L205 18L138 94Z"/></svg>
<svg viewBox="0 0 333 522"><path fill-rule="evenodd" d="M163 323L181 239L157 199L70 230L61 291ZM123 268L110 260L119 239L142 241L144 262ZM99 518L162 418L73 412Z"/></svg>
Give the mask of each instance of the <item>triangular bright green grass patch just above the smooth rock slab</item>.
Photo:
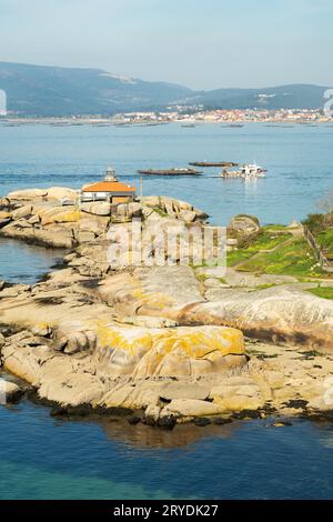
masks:
<svg viewBox="0 0 333 522"><path fill-rule="evenodd" d="M316 259L304 239L294 239L280 244L272 252L262 252L245 260L238 270L276 275L321 277L323 271L316 265Z"/></svg>

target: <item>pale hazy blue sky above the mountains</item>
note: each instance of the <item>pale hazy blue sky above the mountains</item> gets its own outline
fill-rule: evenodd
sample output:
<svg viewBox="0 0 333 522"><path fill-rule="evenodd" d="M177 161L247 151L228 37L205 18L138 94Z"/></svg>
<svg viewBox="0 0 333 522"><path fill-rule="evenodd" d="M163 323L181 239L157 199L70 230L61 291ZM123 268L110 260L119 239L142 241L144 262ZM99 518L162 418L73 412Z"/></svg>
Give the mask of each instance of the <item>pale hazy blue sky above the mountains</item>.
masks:
<svg viewBox="0 0 333 522"><path fill-rule="evenodd" d="M0 61L196 89L333 86L333 0L0 0Z"/></svg>

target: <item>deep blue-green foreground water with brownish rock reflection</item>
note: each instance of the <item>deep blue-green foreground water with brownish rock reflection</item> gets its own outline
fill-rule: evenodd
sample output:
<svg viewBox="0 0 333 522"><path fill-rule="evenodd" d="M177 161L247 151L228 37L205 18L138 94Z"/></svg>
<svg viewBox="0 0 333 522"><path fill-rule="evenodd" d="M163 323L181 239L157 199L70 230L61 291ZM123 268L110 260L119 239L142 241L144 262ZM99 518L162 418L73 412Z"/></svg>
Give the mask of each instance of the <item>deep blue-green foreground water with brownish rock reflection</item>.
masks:
<svg viewBox="0 0 333 522"><path fill-rule="evenodd" d="M164 432L0 408L1 499L330 499L333 428L250 421Z"/></svg>

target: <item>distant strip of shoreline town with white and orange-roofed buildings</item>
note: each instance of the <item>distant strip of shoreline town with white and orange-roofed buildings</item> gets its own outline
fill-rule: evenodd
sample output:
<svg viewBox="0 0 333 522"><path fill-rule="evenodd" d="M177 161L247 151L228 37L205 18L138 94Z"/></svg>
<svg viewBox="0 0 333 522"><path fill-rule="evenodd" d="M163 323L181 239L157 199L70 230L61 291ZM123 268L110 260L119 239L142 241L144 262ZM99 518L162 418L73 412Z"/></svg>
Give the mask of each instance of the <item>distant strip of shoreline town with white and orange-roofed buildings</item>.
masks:
<svg viewBox="0 0 333 522"><path fill-rule="evenodd" d="M233 109L204 110L202 108L176 107L172 111L140 111L123 112L113 116L75 114L71 117L19 117L8 113L1 117L4 126L43 123L53 126L159 126L179 122L183 127L195 127L202 123L220 123L240 127L246 122L274 124L319 124L332 123L333 118L325 114L323 109Z"/></svg>

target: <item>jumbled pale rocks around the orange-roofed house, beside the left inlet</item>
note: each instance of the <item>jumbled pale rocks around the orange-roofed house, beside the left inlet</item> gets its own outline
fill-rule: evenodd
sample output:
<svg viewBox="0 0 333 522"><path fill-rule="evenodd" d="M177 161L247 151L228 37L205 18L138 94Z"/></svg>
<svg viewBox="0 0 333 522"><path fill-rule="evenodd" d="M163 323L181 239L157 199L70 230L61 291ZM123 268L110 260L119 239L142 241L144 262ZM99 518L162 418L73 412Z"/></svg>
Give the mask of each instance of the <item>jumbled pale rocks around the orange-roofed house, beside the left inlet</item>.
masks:
<svg viewBox="0 0 333 522"><path fill-rule="evenodd" d="M118 204L80 203L78 191L64 187L14 191L0 201L1 235L53 248L70 249L107 239L112 223L129 223L134 218L147 221L144 228L154 233L165 217L178 224L199 227L208 218L188 203L164 197Z"/></svg>

